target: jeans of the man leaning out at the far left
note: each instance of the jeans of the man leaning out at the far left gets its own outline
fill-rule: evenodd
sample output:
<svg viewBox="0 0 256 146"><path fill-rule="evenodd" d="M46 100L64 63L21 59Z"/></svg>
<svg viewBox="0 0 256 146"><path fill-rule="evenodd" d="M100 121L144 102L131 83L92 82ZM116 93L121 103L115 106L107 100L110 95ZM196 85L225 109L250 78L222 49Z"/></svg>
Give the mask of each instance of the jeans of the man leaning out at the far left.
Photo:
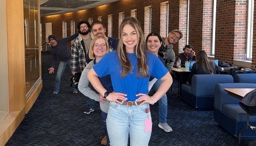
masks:
<svg viewBox="0 0 256 146"><path fill-rule="evenodd" d="M64 74L66 67L70 68L70 61L68 62L64 62L64 61L60 61L59 62L59 66L58 66L58 70L57 70L57 74L55 77L55 83L54 83L54 91L58 92L59 91L59 86L60 86L60 80L62 75ZM70 72L71 72L71 68L70 68ZM74 84L72 84L72 90L77 90L74 86Z"/></svg>

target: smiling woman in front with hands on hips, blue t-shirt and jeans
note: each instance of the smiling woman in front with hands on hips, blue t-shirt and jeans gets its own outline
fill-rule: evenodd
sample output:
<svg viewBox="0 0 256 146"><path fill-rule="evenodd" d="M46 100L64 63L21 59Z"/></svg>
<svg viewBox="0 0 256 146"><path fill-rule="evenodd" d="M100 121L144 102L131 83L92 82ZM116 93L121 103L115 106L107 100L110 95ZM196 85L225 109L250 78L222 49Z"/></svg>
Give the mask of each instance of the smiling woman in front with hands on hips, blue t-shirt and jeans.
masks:
<svg viewBox="0 0 256 146"><path fill-rule="evenodd" d="M143 48L143 32L134 17L123 19L117 51L106 54L88 72L88 79L104 98L110 101L106 126L110 144L148 145L152 131L149 104L157 102L173 80L157 58ZM109 93L98 77L111 76L114 92ZM148 96L150 76L162 80L158 91Z"/></svg>

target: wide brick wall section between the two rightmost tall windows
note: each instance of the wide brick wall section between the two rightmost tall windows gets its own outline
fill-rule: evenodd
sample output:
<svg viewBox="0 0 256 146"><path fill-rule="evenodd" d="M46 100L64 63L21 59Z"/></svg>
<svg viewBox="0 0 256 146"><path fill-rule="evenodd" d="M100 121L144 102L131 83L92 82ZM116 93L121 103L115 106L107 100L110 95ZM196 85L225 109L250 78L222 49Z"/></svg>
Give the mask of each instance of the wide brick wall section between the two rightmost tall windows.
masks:
<svg viewBox="0 0 256 146"><path fill-rule="evenodd" d="M215 58L242 59L246 40L246 1L217 1Z"/></svg>

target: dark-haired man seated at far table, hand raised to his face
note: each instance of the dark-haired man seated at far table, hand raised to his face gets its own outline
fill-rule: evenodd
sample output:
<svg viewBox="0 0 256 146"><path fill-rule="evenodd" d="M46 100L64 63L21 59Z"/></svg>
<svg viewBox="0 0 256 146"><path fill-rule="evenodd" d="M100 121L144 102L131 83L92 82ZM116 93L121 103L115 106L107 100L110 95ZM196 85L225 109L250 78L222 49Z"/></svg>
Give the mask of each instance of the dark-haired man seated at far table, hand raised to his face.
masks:
<svg viewBox="0 0 256 146"><path fill-rule="evenodd" d="M193 51L193 46L187 44L183 47L183 52L180 53L174 62L174 66L177 67L177 60L180 58L181 67L185 67L185 62L189 60L196 60L196 52Z"/></svg>

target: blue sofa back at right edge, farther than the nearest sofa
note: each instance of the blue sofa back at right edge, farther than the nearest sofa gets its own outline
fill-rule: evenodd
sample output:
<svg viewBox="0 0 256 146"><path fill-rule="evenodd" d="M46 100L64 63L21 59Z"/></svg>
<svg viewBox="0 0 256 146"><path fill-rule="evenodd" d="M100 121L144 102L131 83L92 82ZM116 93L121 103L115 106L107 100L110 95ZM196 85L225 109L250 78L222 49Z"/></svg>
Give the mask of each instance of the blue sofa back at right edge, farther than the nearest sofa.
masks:
<svg viewBox="0 0 256 146"><path fill-rule="evenodd" d="M256 74L234 75L234 83L254 83L254 84L256 84Z"/></svg>

